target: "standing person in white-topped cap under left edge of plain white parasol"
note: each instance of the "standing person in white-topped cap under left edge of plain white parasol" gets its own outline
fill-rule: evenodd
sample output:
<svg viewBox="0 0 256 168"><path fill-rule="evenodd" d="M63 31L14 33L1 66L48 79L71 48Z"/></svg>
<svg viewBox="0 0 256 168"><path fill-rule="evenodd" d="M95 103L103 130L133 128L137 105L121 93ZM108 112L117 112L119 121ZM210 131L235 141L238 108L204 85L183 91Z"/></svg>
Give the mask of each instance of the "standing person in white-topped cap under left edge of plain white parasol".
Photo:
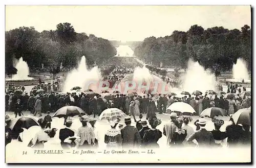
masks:
<svg viewBox="0 0 256 168"><path fill-rule="evenodd" d="M167 138L167 147L170 146L170 140L173 138L173 133L176 131L177 127L175 125L176 119L179 116L175 112L170 113L170 122L165 124L163 127L163 134Z"/></svg>

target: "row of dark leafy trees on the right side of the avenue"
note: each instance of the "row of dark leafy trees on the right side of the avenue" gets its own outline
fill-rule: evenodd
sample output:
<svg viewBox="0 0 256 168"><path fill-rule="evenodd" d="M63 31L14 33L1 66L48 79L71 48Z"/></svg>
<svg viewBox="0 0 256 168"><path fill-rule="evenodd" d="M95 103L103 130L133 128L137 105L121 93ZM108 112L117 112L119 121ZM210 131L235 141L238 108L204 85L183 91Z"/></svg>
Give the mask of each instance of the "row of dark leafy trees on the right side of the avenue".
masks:
<svg viewBox="0 0 256 168"><path fill-rule="evenodd" d="M187 32L174 31L165 37L148 37L136 47L134 55L146 63L186 68L189 58L209 68L216 76L220 71L230 70L238 58L251 68L251 29L248 25L228 30L214 27L204 30L191 26Z"/></svg>

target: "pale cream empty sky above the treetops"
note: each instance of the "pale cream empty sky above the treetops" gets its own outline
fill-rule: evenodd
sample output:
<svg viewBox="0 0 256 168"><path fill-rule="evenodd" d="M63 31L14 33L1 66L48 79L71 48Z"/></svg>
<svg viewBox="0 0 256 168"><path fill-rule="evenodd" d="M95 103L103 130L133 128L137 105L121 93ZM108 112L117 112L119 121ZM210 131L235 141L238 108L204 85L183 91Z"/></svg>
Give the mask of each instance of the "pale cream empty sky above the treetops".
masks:
<svg viewBox="0 0 256 168"><path fill-rule="evenodd" d="M58 23L69 22L78 33L142 41L192 25L240 30L251 26L250 11L250 6L6 6L6 31L22 26L56 30Z"/></svg>

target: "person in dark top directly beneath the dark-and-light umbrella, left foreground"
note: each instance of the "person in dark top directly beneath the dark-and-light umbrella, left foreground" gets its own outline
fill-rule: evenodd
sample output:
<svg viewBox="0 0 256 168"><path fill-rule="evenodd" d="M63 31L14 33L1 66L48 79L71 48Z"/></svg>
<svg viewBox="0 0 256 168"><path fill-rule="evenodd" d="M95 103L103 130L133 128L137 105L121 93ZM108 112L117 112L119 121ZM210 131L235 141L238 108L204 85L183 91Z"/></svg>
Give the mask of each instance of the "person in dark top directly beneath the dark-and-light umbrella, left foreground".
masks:
<svg viewBox="0 0 256 168"><path fill-rule="evenodd" d="M63 149L69 149L70 148L70 144L64 142L64 140L67 139L68 137L72 137L72 136L75 135L75 132L70 129L71 125L72 125L72 120L67 119L66 128L63 128L63 129L59 130L60 145Z"/></svg>

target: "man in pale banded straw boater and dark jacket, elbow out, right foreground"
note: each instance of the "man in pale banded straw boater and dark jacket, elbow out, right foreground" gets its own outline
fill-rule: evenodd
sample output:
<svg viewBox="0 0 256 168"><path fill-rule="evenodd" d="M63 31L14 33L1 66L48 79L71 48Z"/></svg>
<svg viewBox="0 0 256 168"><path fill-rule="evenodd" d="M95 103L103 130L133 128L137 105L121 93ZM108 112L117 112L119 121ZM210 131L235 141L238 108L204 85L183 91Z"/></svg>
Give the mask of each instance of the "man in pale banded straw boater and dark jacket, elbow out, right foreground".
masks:
<svg viewBox="0 0 256 168"><path fill-rule="evenodd" d="M187 138L187 142L191 142L194 139L197 140L199 147L209 147L215 145L214 136L210 131L205 129L206 119L199 118L197 124L200 126L200 130L194 132Z"/></svg>

